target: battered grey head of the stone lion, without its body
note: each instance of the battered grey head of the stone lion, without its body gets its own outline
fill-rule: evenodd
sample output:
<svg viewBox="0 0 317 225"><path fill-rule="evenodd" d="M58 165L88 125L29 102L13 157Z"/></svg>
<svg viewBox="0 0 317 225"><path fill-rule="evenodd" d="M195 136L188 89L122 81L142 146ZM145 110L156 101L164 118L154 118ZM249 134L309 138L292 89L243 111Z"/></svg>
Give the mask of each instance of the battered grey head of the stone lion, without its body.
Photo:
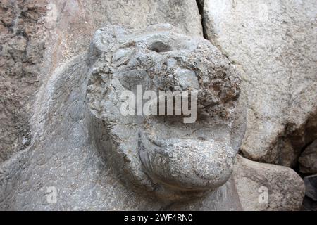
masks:
<svg viewBox="0 0 317 225"><path fill-rule="evenodd" d="M188 198L225 184L243 137L240 76L209 41L168 24L97 30L89 49L90 133L126 184ZM123 115L124 91L195 91L197 120ZM175 108L174 108L175 110ZM237 122L238 121L238 122Z"/></svg>

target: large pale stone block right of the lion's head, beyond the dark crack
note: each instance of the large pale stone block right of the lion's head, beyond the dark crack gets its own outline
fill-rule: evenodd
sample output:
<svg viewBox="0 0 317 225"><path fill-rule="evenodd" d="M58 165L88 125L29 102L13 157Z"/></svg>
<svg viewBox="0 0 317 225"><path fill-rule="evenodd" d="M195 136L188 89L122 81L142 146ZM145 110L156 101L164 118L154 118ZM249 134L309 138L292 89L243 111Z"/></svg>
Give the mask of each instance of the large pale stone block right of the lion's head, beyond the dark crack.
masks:
<svg viewBox="0 0 317 225"><path fill-rule="evenodd" d="M317 136L317 3L204 1L204 30L244 71L248 98L242 154L294 166Z"/></svg>

